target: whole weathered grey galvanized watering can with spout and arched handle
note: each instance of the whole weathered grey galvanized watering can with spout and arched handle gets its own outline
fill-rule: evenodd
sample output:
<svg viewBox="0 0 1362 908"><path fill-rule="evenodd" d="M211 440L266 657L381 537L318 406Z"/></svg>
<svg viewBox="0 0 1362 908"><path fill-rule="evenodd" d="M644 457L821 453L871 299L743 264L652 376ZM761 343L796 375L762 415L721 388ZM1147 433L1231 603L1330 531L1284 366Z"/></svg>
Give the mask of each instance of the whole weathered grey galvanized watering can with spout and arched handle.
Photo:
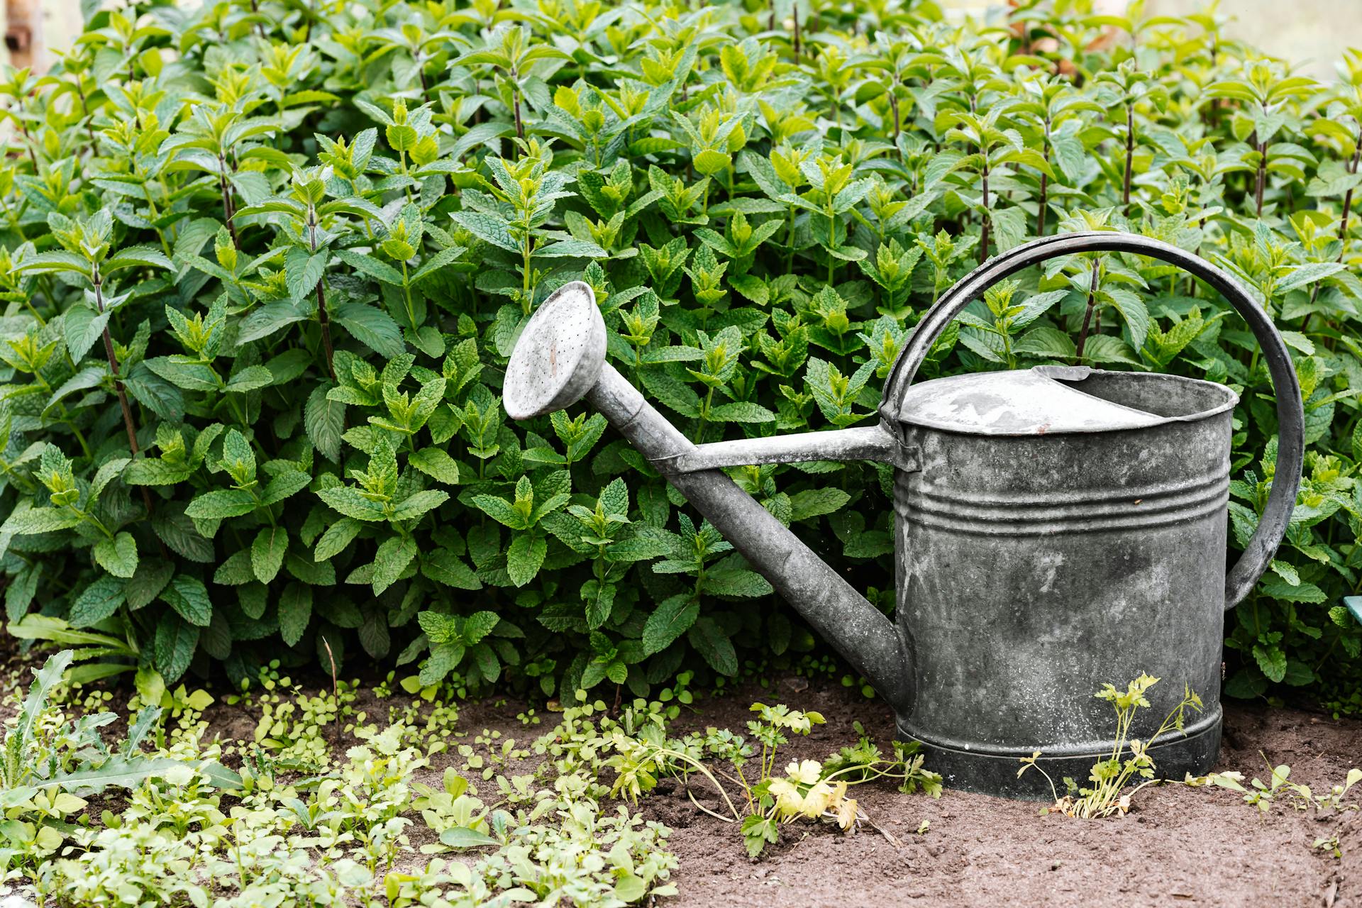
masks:
<svg viewBox="0 0 1362 908"><path fill-rule="evenodd" d="M1189 271L1253 329L1276 389L1276 481L1257 532L1224 573L1230 421L1238 396L1196 378L1036 366L913 385L932 343L996 283L1053 256L1130 252ZM1132 736L1147 739L1184 685L1185 734L1151 756L1178 779L1220 745L1224 610L1267 569L1299 485L1303 410L1291 358L1229 275L1120 233L1046 237L987 261L926 313L884 387L876 426L695 445L605 361L591 289L573 282L526 325L507 368L516 419L583 396L760 570L898 713L952 785L1042 798L1017 758L1058 781L1110 753L1114 716L1092 694L1162 679ZM806 460L895 466L896 623L720 467ZM1155 715L1158 713L1158 715Z"/></svg>

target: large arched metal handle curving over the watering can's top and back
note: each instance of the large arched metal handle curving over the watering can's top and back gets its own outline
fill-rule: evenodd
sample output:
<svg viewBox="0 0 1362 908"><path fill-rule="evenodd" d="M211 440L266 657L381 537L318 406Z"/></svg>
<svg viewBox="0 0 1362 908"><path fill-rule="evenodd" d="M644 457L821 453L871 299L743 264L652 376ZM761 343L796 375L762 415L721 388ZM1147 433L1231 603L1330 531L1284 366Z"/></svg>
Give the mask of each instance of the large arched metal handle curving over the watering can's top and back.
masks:
<svg viewBox="0 0 1362 908"><path fill-rule="evenodd" d="M1205 259L1158 240L1130 233L1105 231L1042 237L1009 249L966 275L922 317L913 339L899 353L893 369L884 383L880 415L885 426L892 427L898 423L903 398L908 385L913 384L918 368L932 350L932 344L971 301L982 297L983 291L998 280L1023 268L1046 259L1079 252L1133 252L1178 265L1219 291L1249 324L1253 336L1257 338L1258 346L1263 348L1276 392L1276 472L1272 491L1268 494L1268 505L1258 520L1257 531L1224 579L1224 607L1233 609L1249 595L1253 584L1267 570L1282 536L1286 534L1287 524L1291 521L1291 510L1295 508L1297 490L1299 489L1301 464L1305 459L1305 407L1301 403L1301 385L1295 377L1295 366L1276 325L1272 324L1263 306L1234 278ZM1287 481L1283 482L1283 479Z"/></svg>

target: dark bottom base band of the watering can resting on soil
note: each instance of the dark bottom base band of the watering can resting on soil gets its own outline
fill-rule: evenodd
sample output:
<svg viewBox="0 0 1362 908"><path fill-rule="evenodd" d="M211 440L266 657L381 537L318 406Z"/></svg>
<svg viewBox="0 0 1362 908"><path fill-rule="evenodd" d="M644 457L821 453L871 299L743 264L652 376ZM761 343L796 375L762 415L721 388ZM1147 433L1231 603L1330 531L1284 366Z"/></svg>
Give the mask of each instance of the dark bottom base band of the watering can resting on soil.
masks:
<svg viewBox="0 0 1362 908"><path fill-rule="evenodd" d="M1215 768L1220 753L1220 727L1223 715L1219 707L1209 723L1196 723L1190 734L1181 736L1173 732L1150 749L1154 758L1155 776L1181 781L1186 773L1204 776ZM985 750L960 750L934 743L921 734L906 731L903 721L898 723L899 741L915 741L922 745L926 760L923 768L940 773L947 788L970 791L994 798L1013 800L1050 800L1050 783L1036 769L1027 769L1019 779L1022 768L1015 754L989 753ZM1064 794L1064 779L1068 776L1080 785L1088 780L1092 764L1110 757L1110 751L1091 754L1064 754L1050 757L1042 753L1036 766L1045 769L1054 780L1054 788Z"/></svg>

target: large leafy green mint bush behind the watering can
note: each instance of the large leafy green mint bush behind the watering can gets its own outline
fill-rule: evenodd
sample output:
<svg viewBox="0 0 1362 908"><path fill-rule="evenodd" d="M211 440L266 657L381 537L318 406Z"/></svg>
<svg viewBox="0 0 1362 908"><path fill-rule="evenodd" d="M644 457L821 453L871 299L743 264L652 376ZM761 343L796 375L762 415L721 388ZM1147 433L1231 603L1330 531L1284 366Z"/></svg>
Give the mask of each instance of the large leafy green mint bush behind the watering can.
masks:
<svg viewBox="0 0 1362 908"><path fill-rule="evenodd" d="M808 651L599 415L505 419L526 316L584 276L616 365L695 440L847 426L975 261L1107 227L1218 261L1286 332L1308 476L1234 613L1229 690L1327 677L1346 700L1362 54L1325 86L1209 14L1022 5L1008 30L857 0L90 12L52 74L0 84L10 621L125 640L91 644L89 675L169 682L358 644L421 660L428 685L643 693L688 663ZM1234 538L1252 531L1271 388L1184 276L1058 260L937 354L929 374L1060 361L1233 384ZM862 585L892 576L883 470L734 476Z"/></svg>

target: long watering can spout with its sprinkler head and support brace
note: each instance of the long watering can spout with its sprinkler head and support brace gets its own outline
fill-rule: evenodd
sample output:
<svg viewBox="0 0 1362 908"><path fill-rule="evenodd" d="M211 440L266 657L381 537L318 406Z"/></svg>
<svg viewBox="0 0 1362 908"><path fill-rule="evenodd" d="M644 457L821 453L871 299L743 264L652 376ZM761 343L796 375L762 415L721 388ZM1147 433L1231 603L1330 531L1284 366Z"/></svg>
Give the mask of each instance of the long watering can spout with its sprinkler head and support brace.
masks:
<svg viewBox="0 0 1362 908"><path fill-rule="evenodd" d="M606 329L591 287L572 282L526 325L507 366L515 419L580 399L599 411L899 712L911 709L911 645L865 596L719 467L865 457L903 466L911 452L883 426L696 445L605 361Z"/></svg>

